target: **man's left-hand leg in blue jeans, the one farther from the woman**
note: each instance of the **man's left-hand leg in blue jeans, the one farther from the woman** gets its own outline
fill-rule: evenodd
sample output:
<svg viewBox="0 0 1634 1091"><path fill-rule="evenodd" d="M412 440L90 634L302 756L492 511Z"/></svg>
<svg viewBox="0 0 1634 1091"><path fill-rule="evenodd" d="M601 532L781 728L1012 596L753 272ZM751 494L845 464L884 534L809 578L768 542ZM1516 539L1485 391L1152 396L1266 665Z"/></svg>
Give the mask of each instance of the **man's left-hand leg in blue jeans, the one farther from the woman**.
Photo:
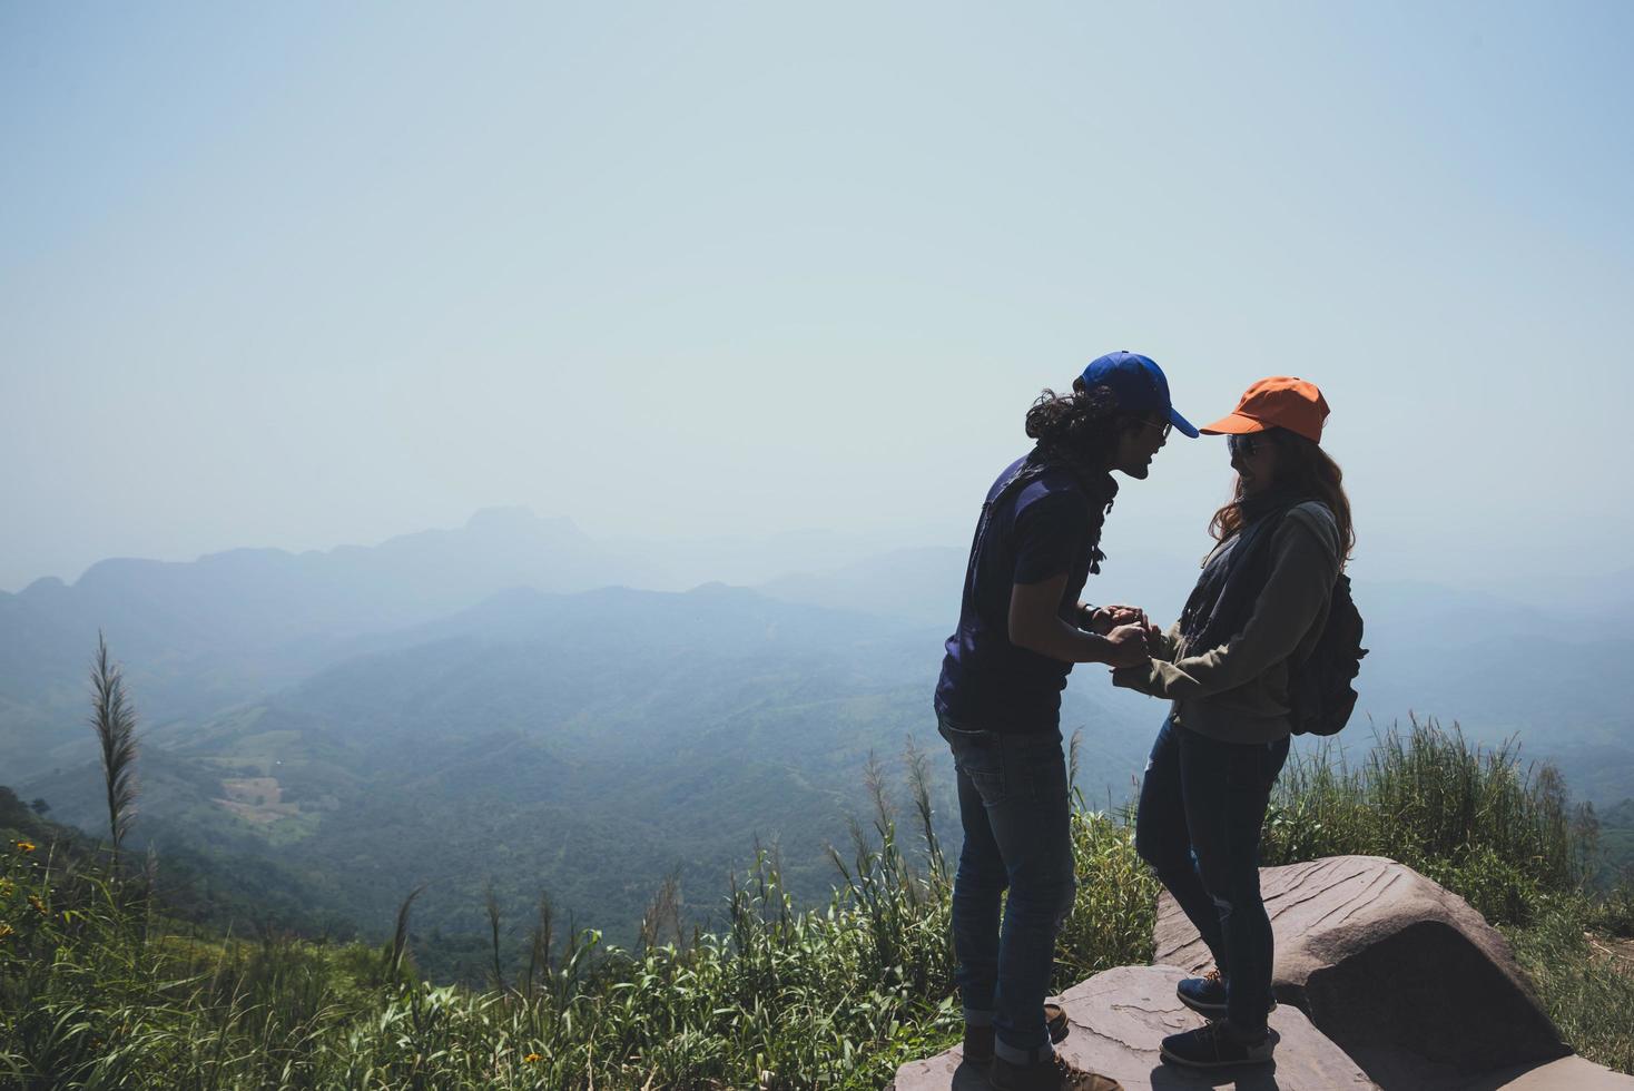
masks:
<svg viewBox="0 0 1634 1091"><path fill-rule="evenodd" d="M948 720L940 720L938 730L953 750L959 825L964 828L964 848L959 849L959 867L953 879L953 952L958 959L954 982L966 1024L985 1027L993 1022L998 905L1008 879L977 782L987 786L989 794L1002 790L998 737L992 732L962 730Z"/></svg>

